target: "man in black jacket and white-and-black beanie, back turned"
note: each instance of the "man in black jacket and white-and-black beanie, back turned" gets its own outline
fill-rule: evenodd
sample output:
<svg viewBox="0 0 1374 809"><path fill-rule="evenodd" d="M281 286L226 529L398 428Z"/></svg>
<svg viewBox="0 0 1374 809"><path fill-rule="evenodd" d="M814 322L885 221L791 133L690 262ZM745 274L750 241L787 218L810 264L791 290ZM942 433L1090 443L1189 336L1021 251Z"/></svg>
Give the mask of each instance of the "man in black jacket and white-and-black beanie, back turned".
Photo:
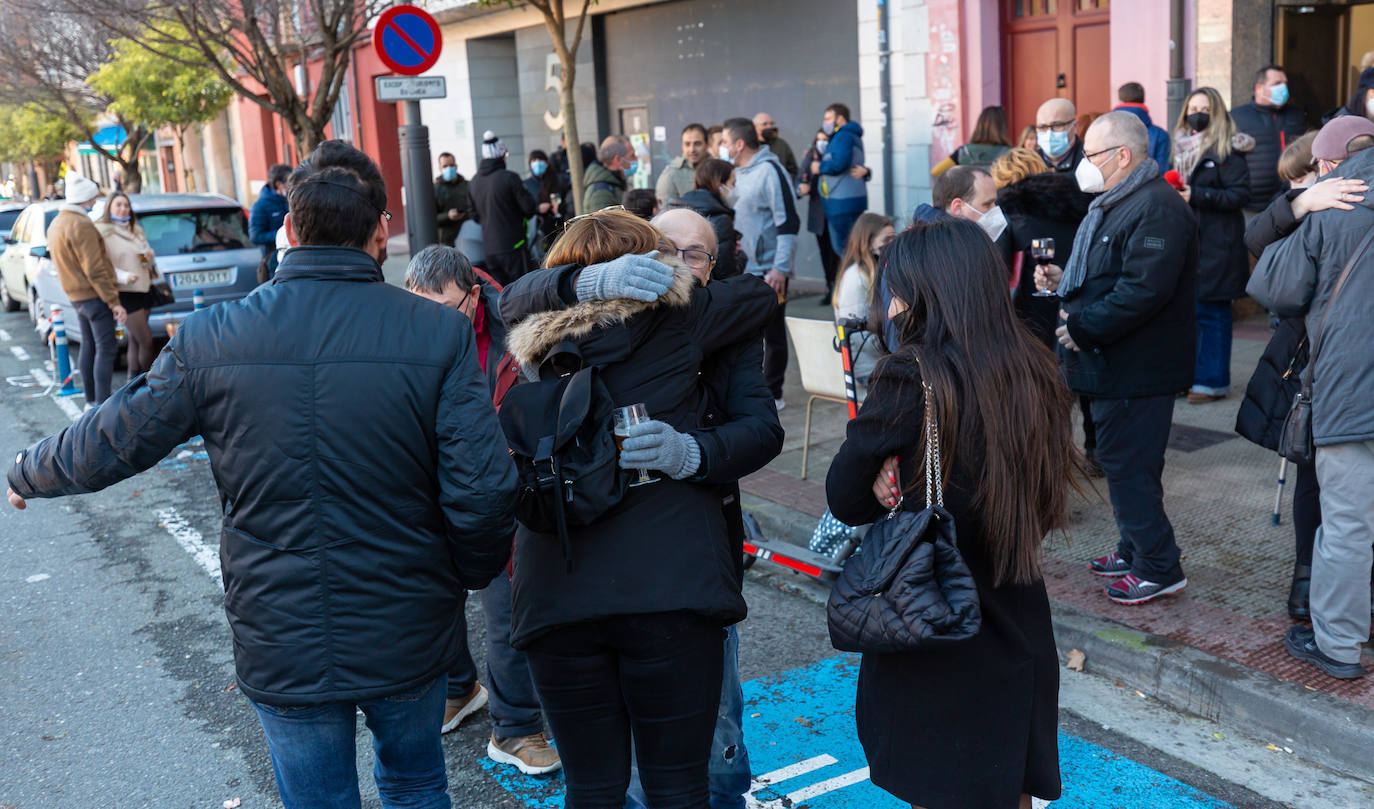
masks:
<svg viewBox="0 0 1374 809"><path fill-rule="evenodd" d="M508 284L529 269L526 220L539 206L519 176L506 168L506 144L491 129L482 133L482 162L467 192L473 218L482 225L482 269Z"/></svg>

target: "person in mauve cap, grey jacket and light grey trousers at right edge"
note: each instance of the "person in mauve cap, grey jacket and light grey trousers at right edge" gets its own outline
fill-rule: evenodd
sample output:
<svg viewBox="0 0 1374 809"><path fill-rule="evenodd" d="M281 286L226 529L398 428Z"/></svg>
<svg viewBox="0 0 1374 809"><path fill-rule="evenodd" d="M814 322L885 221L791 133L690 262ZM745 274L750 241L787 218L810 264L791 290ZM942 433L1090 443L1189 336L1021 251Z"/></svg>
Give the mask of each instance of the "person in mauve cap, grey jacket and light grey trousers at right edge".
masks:
<svg viewBox="0 0 1374 809"><path fill-rule="evenodd" d="M1322 173L1374 181L1374 125L1331 119L1312 141ZM1338 172L1331 172L1340 165ZM1305 317L1312 441L1322 526L1312 549L1312 626L1289 629L1285 648L1331 677L1362 677L1370 637L1374 565L1374 195L1341 194L1342 207L1303 217L1265 249L1245 291L1281 317ZM1348 268L1348 271L1347 271Z"/></svg>

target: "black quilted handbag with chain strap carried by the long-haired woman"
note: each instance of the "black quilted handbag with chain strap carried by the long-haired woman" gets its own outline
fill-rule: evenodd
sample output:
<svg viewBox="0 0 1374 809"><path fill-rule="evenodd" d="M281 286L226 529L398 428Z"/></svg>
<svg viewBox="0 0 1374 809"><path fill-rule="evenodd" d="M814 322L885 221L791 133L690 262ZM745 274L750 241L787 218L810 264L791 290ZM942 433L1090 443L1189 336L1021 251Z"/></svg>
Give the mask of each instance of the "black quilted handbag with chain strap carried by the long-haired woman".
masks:
<svg viewBox="0 0 1374 809"><path fill-rule="evenodd" d="M826 624L840 651L933 650L969 640L982 625L978 588L944 508L940 430L925 389L926 507L901 511L899 499L835 580Z"/></svg>

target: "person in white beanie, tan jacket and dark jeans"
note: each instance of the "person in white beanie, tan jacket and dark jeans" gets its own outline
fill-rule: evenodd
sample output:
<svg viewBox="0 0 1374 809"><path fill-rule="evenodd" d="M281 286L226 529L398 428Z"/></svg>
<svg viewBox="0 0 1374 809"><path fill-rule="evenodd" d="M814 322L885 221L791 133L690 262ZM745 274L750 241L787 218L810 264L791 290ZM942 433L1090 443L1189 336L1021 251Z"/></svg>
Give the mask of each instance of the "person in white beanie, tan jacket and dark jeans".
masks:
<svg viewBox="0 0 1374 809"><path fill-rule="evenodd" d="M48 225L48 257L58 268L62 291L77 310L81 324L81 391L88 405L110 397L114 376L114 321L124 323L114 265L104 251L104 239L88 216L100 196L91 180L67 172L67 201Z"/></svg>

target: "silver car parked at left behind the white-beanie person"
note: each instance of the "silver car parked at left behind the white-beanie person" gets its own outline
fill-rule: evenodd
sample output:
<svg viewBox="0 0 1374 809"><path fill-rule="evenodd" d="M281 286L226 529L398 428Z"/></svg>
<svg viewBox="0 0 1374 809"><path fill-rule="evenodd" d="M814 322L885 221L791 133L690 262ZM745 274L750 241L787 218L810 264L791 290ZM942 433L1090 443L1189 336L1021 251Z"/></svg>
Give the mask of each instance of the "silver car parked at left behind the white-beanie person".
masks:
<svg viewBox="0 0 1374 809"><path fill-rule="evenodd" d="M131 194L133 214L157 254L158 272L168 280L176 302L158 306L148 316L154 337L166 334L169 323L180 323L191 312L196 290L205 305L238 301L257 287L262 251L249 240L247 214L228 196L213 194ZM91 212L99 217L103 203ZM52 261L41 262L29 291L30 312L38 332L47 337L54 305L69 308ZM66 316L67 337L80 342Z"/></svg>

